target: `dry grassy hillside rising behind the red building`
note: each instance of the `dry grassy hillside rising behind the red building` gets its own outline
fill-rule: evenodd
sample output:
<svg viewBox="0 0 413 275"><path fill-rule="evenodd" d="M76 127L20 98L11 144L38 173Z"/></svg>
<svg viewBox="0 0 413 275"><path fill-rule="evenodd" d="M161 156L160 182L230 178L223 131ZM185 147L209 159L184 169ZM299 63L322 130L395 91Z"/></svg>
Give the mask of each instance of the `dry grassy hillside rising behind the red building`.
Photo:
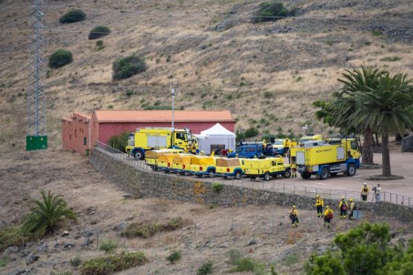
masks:
<svg viewBox="0 0 413 275"><path fill-rule="evenodd" d="M30 6L0 1L0 152L25 142ZM313 117L313 100L340 87L350 66L377 65L412 74L413 6L409 1L284 1L296 17L253 23L257 1L48 1L45 54L60 47L73 62L47 72L50 146L61 144L61 117L71 111L169 106L171 80L178 109L230 109L237 129L260 133L332 133ZM61 24L81 9L84 21ZM96 25L112 33L88 40ZM116 58L144 56L148 69L112 80Z"/></svg>

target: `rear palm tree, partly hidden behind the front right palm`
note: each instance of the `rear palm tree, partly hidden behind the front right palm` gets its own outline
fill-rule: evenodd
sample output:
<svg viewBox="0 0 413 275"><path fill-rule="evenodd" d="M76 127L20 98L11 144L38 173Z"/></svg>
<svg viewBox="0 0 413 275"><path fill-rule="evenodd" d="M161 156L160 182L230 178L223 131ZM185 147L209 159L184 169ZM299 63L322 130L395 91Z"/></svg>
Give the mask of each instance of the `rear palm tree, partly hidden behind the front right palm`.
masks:
<svg viewBox="0 0 413 275"><path fill-rule="evenodd" d="M332 112L332 122L341 129L356 129L359 133L364 134L363 158L362 163L372 165L372 128L363 121L354 124L353 114L357 111L357 101L354 98L355 93L367 93L377 88L378 78L387 72L383 69L374 67L363 67L361 69L352 68L341 74L343 78L338 79L344 86L332 100L332 106L335 106Z"/></svg>

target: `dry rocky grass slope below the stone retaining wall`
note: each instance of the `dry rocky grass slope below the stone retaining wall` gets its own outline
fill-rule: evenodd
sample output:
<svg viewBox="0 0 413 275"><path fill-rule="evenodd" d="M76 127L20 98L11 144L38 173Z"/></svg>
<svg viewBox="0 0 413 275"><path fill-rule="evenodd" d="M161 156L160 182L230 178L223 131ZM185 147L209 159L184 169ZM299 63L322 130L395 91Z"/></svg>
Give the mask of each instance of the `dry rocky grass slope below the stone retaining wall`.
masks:
<svg viewBox="0 0 413 275"><path fill-rule="evenodd" d="M28 212L30 199L39 190L64 195L78 216L59 232L23 248L2 252L6 266L0 274L59 274L72 272L70 260L101 256L98 241L114 240L118 250L143 251L149 263L120 274L195 274L202 263L211 261L215 274L231 268L226 254L239 250L244 256L275 264L279 274L302 274L302 264L313 253L330 247L337 232L359 222L335 219L332 228L323 228L315 212L299 210L299 228L291 229L288 208L248 206L221 208L160 199L127 199L116 185L101 177L87 157L63 151L39 151L0 155L0 223L20 223ZM161 232L147 239L124 238L120 231L136 221L162 222L173 217L187 221L184 227ZM370 221L390 223L396 239L413 235L409 224L373 217ZM64 232L67 230L67 232ZM165 260L173 250L182 251L176 264ZM2 256L4 257L4 256Z"/></svg>

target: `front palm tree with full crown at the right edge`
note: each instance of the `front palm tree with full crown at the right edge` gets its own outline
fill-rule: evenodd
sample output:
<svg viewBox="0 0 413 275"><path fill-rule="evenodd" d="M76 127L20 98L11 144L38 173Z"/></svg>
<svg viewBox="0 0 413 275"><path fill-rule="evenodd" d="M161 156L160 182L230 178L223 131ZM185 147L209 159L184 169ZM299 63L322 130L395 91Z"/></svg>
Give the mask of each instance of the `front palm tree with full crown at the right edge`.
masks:
<svg viewBox="0 0 413 275"><path fill-rule="evenodd" d="M406 74L381 74L376 89L354 94L357 112L352 119L368 126L382 136L383 177L392 175L390 170L389 133L405 133L413 129L413 92Z"/></svg>

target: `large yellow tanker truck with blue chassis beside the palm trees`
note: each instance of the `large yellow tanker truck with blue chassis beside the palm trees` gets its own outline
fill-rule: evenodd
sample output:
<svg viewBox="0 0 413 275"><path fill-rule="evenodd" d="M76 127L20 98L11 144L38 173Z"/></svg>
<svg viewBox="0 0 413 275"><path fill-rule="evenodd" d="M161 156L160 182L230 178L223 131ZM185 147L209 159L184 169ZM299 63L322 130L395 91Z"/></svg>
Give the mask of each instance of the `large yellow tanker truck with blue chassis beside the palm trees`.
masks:
<svg viewBox="0 0 413 275"><path fill-rule="evenodd" d="M339 137L324 141L304 142L303 146L294 148L297 172L304 179L318 175L327 179L330 175L344 173L348 177L356 175L360 166L360 149L355 138Z"/></svg>

